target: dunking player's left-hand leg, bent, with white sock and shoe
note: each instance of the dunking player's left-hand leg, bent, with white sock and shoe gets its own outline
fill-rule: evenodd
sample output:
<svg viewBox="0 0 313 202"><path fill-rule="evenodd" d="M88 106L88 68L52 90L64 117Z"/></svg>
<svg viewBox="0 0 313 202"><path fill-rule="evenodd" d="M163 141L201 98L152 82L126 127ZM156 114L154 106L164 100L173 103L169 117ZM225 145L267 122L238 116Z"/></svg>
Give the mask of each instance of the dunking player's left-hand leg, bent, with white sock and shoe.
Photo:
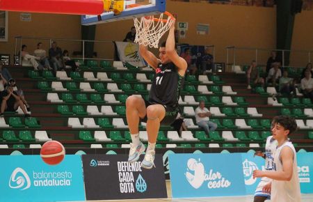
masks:
<svg viewBox="0 0 313 202"><path fill-rule="evenodd" d="M129 150L128 162L133 163L139 160L141 154L145 151L145 146L139 139L138 125L140 118L145 117L145 101L134 95L126 100L126 118L131 133L131 148Z"/></svg>

